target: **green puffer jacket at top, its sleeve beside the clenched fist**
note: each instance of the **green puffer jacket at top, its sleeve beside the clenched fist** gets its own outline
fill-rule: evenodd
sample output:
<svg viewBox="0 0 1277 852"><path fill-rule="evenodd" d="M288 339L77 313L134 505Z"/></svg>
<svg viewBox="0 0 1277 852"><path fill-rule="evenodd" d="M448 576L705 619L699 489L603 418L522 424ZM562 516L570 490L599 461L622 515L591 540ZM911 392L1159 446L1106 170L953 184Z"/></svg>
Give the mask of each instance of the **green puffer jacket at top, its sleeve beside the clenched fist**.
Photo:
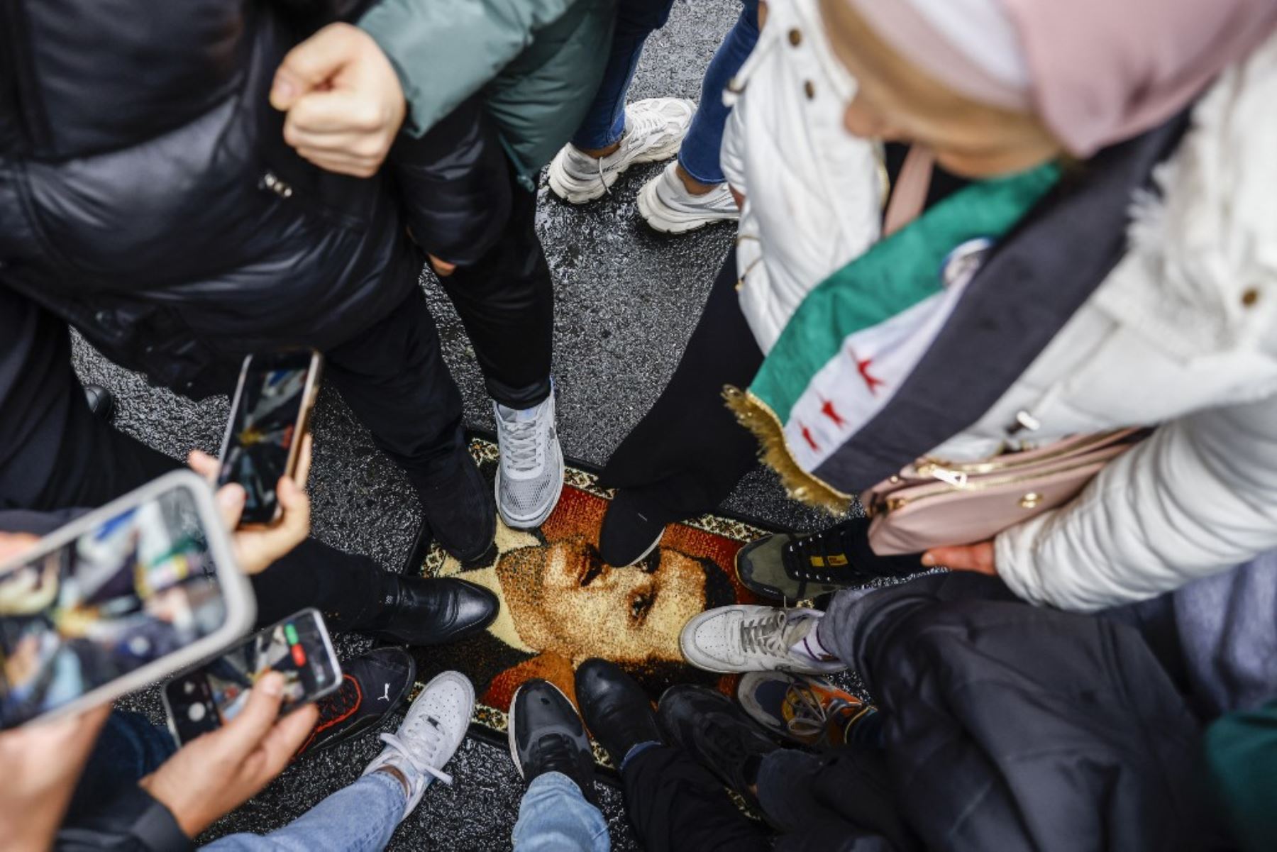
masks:
<svg viewBox="0 0 1277 852"><path fill-rule="evenodd" d="M421 135L483 91L520 183L572 137L603 78L616 0L382 0L363 27L398 72Z"/></svg>

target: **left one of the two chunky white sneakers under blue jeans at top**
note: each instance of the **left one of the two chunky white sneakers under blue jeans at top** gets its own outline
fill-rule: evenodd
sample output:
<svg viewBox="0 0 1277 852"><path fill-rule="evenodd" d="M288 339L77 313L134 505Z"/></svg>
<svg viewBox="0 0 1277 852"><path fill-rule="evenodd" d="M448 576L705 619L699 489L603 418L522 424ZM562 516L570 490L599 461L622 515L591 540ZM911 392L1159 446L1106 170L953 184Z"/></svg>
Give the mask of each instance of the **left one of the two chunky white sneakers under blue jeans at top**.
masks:
<svg viewBox="0 0 1277 852"><path fill-rule="evenodd" d="M571 142L563 146L550 162L550 190L571 204L600 198L630 166L678 153L695 112L693 102L677 97L650 97L627 105L621 147L607 157L590 157Z"/></svg>

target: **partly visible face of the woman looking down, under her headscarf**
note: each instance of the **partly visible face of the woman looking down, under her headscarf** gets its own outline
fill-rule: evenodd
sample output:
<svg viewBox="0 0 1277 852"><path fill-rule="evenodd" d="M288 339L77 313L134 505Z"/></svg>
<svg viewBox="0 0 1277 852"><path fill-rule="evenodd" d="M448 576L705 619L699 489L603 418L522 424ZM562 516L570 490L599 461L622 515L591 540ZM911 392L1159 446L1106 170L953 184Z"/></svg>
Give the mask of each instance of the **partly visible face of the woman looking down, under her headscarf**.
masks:
<svg viewBox="0 0 1277 852"><path fill-rule="evenodd" d="M882 42L847 0L820 0L839 61L859 88L843 124L853 135L922 144L948 171L979 179L1024 171L1061 146L1033 115L956 95Z"/></svg>

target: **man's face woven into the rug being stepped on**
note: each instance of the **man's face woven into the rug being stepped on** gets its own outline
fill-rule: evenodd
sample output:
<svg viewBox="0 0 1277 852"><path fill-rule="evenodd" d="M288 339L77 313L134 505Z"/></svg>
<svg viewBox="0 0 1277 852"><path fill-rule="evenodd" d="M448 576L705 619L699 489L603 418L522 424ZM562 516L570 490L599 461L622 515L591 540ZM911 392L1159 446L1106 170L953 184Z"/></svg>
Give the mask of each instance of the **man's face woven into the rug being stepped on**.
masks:
<svg viewBox="0 0 1277 852"><path fill-rule="evenodd" d="M705 609L705 571L665 548L614 568L581 538L511 551L497 563L520 639L572 662L681 662L678 634Z"/></svg>

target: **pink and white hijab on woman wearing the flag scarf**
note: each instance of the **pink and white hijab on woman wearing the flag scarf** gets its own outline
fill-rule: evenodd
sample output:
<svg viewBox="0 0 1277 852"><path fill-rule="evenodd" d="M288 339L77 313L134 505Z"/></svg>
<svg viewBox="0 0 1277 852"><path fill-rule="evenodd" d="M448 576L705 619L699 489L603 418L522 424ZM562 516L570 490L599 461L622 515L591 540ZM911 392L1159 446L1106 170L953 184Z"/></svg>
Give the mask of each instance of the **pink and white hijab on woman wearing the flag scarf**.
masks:
<svg viewBox="0 0 1277 852"><path fill-rule="evenodd" d="M902 56L976 100L1033 110L1078 157L1157 126L1277 29L1277 0L848 1Z"/></svg>

